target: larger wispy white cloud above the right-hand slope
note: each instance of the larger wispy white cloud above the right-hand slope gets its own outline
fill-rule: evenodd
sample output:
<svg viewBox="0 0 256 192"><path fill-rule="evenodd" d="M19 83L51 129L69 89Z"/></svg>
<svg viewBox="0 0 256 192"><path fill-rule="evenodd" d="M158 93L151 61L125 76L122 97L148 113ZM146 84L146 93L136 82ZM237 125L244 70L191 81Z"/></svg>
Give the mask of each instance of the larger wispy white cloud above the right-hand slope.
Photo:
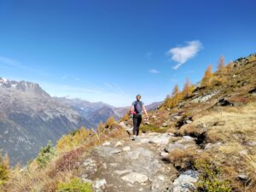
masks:
<svg viewBox="0 0 256 192"><path fill-rule="evenodd" d="M166 55L171 56L172 61L177 62L177 65L173 67L174 69L181 67L185 62L193 58L202 48L202 44L198 40L189 41L186 44L185 46L177 46L169 49L166 53Z"/></svg>

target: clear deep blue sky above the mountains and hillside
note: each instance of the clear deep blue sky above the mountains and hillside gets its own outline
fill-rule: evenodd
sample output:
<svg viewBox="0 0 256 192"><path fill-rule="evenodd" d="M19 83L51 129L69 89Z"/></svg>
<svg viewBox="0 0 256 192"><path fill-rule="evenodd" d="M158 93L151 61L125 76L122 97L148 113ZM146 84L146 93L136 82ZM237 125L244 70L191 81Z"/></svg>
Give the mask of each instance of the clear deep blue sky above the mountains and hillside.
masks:
<svg viewBox="0 0 256 192"><path fill-rule="evenodd" d="M0 77L127 106L256 52L254 0L0 0Z"/></svg>

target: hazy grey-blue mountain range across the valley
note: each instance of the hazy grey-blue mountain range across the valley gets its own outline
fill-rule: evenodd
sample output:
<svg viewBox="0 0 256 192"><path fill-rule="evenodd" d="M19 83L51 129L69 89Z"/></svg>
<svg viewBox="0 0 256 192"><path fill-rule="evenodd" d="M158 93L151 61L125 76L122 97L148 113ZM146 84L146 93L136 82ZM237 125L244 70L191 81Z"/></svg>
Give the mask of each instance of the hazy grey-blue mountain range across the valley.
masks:
<svg viewBox="0 0 256 192"><path fill-rule="evenodd" d="M81 126L96 128L111 116L119 119L127 110L103 102L49 96L39 84L0 78L0 148L9 154L11 165L25 165L49 140L55 143Z"/></svg>

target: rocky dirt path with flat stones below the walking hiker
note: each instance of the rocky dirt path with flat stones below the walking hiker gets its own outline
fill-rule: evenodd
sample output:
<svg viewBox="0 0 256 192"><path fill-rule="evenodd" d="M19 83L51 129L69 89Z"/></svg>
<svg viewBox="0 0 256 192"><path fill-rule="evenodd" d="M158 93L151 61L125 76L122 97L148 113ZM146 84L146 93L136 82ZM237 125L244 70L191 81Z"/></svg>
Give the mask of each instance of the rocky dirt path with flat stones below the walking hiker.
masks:
<svg viewBox="0 0 256 192"><path fill-rule="evenodd" d="M174 188L177 170L163 160L171 137L167 133L150 133L136 141L127 138L103 143L84 160L81 177L98 192L189 191Z"/></svg>

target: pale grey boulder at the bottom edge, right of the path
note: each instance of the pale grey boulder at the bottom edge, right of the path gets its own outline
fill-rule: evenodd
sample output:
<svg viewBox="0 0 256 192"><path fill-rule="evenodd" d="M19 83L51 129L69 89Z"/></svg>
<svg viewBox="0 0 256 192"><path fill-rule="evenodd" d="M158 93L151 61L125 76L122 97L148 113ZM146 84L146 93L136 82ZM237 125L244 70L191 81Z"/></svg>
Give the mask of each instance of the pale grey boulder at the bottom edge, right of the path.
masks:
<svg viewBox="0 0 256 192"><path fill-rule="evenodd" d="M172 183L172 192L190 192L195 190L194 183L199 179L199 172L188 170L183 172Z"/></svg>

